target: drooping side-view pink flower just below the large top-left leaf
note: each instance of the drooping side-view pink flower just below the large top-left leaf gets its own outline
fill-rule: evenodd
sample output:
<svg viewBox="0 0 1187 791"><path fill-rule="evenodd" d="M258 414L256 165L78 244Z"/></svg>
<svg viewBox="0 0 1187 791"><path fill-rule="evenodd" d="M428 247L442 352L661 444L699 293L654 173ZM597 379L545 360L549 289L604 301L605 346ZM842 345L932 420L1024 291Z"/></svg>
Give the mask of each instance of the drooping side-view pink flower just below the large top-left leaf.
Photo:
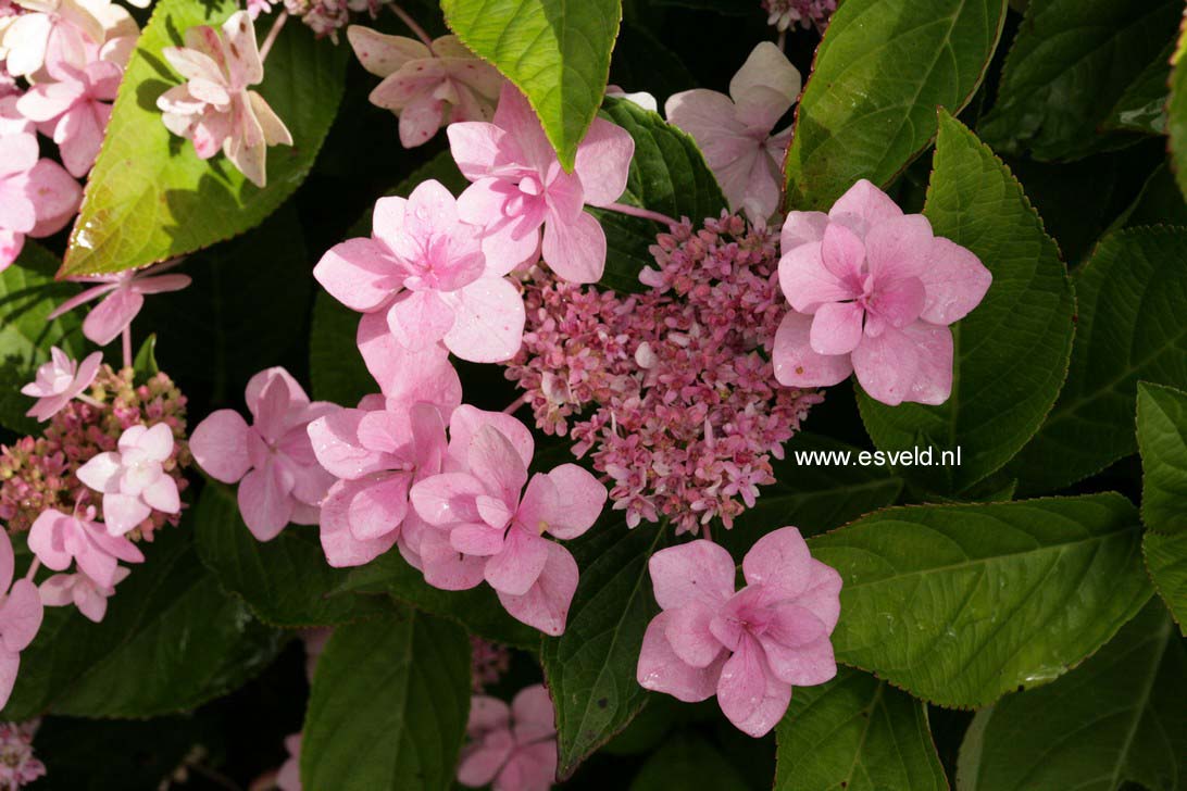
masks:
<svg viewBox="0 0 1187 791"><path fill-rule="evenodd" d="M80 305L102 296L103 301L96 305L83 320L82 333L91 343L106 346L132 325L132 320L144 307L145 294L164 294L180 291L190 285L189 275L160 274L177 263L177 261L170 261L146 269L125 269L112 275L71 278L72 282L99 285L91 286L62 302L50 313L49 318L56 319Z"/></svg>

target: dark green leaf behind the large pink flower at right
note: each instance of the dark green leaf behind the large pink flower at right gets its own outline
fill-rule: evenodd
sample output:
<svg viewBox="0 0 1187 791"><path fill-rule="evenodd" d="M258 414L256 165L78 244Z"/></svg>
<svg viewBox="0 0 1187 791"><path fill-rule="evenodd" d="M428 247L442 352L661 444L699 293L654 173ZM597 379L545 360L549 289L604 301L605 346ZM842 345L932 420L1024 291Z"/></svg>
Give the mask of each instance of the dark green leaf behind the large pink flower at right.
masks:
<svg viewBox="0 0 1187 791"><path fill-rule="evenodd" d="M937 454L959 448L959 466L900 470L933 490L959 492L1009 461L1055 403L1072 350L1075 300L1059 248L1017 180L946 113L923 213L937 236L976 253L994 283L952 327L952 396L945 403L888 407L864 393L858 403L874 444L884 451L910 448L921 438Z"/></svg>

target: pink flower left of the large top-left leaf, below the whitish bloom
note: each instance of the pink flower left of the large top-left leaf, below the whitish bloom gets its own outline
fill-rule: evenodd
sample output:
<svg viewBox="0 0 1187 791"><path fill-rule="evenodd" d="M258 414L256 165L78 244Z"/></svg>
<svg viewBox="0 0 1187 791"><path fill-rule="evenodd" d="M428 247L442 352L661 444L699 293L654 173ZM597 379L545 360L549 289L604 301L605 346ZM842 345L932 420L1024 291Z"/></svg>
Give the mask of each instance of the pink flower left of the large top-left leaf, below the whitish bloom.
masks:
<svg viewBox="0 0 1187 791"><path fill-rule="evenodd" d="M51 51L45 70L55 82L32 85L17 101L17 109L51 132L66 171L83 177L99 155L112 117L107 102L115 100L123 69L100 59L78 65Z"/></svg>

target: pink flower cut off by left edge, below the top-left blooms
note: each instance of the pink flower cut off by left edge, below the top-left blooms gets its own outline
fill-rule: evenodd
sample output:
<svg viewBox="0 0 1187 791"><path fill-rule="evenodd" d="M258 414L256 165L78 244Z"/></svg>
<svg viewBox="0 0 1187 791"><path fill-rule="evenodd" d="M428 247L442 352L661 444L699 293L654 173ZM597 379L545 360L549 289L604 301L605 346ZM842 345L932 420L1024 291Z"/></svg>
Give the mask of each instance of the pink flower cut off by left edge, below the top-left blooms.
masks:
<svg viewBox="0 0 1187 791"><path fill-rule="evenodd" d="M31 133L0 134L0 272L20 255L26 235L56 234L82 202L78 183L38 155Z"/></svg>

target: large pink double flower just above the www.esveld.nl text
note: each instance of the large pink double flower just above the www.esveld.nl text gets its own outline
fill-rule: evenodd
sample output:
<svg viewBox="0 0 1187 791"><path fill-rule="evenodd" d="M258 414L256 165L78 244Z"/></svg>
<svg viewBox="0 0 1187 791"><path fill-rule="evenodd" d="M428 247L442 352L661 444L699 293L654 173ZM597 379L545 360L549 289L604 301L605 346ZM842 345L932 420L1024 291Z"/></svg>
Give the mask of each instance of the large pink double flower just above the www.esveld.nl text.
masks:
<svg viewBox="0 0 1187 791"><path fill-rule="evenodd" d="M948 325L980 304L992 275L976 255L932 235L861 180L827 215L793 211L779 282L794 312L772 359L776 378L826 387L850 372L874 398L938 404L952 393Z"/></svg>

